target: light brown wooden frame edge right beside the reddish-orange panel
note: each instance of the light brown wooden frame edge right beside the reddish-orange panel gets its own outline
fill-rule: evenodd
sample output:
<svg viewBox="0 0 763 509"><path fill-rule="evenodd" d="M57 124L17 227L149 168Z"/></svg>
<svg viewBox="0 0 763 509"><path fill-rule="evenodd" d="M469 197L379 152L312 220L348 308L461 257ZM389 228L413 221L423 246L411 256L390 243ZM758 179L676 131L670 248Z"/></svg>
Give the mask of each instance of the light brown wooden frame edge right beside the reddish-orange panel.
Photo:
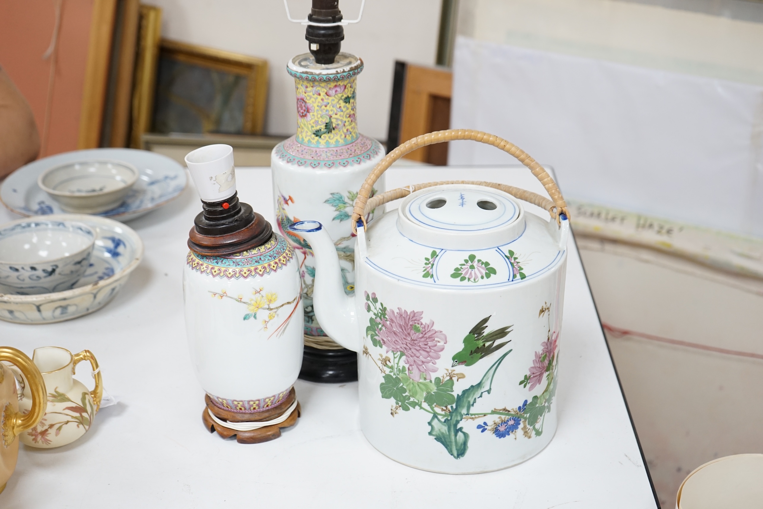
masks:
<svg viewBox="0 0 763 509"><path fill-rule="evenodd" d="M88 62L85 67L85 89L79 118L78 149L92 149L101 142L101 121L108 86L108 64L111 59L111 37L117 0L94 0L90 21Z"/></svg>

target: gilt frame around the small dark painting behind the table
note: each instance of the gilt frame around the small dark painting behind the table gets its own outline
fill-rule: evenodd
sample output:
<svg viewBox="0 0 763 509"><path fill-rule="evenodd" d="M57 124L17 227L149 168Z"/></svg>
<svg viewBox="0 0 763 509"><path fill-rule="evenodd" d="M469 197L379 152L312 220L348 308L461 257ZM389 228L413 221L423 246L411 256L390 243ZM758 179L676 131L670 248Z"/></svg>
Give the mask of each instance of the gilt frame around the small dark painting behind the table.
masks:
<svg viewBox="0 0 763 509"><path fill-rule="evenodd" d="M246 77L243 130L240 134L262 134L268 93L267 60L173 40L162 40L160 58Z"/></svg>

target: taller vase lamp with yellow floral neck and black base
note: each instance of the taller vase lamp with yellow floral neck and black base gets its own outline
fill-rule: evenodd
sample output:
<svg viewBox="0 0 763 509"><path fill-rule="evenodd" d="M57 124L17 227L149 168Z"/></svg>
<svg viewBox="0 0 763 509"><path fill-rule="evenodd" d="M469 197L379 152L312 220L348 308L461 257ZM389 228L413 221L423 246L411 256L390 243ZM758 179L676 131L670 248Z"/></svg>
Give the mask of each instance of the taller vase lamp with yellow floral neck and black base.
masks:
<svg viewBox="0 0 763 509"><path fill-rule="evenodd" d="M350 382L357 379L354 352L330 338L314 313L315 259L310 243L289 225L301 219L324 224L340 257L342 288L353 295L355 260L350 212L357 190L384 156L381 143L358 132L356 80L363 61L340 53L344 39L337 0L313 0L305 38L310 53L295 56L286 70L297 89L297 134L272 151L275 215L280 233L297 253L304 305L304 360L301 379ZM357 21L357 20L356 20ZM383 188L383 181L375 188ZM367 221L373 217L369 211Z"/></svg>

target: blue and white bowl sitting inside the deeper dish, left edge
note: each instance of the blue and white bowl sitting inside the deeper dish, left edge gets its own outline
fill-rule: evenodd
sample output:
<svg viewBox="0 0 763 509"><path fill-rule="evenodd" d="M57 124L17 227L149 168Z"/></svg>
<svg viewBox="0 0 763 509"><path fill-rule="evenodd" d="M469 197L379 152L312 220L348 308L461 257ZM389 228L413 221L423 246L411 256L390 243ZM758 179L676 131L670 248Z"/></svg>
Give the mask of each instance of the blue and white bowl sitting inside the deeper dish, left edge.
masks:
<svg viewBox="0 0 763 509"><path fill-rule="evenodd" d="M0 226L0 292L69 290L90 264L95 233L85 224L48 217Z"/></svg>

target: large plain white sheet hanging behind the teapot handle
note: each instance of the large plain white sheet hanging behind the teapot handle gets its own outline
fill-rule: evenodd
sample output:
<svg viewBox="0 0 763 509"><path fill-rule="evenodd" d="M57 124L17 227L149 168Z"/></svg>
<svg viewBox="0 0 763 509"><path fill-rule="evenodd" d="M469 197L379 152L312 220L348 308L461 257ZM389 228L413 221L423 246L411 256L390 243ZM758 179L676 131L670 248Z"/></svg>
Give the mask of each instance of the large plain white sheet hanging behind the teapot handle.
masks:
<svg viewBox="0 0 763 509"><path fill-rule="evenodd" d="M452 128L504 137L571 198L763 237L763 87L456 40ZM450 143L449 164L505 164Z"/></svg>

